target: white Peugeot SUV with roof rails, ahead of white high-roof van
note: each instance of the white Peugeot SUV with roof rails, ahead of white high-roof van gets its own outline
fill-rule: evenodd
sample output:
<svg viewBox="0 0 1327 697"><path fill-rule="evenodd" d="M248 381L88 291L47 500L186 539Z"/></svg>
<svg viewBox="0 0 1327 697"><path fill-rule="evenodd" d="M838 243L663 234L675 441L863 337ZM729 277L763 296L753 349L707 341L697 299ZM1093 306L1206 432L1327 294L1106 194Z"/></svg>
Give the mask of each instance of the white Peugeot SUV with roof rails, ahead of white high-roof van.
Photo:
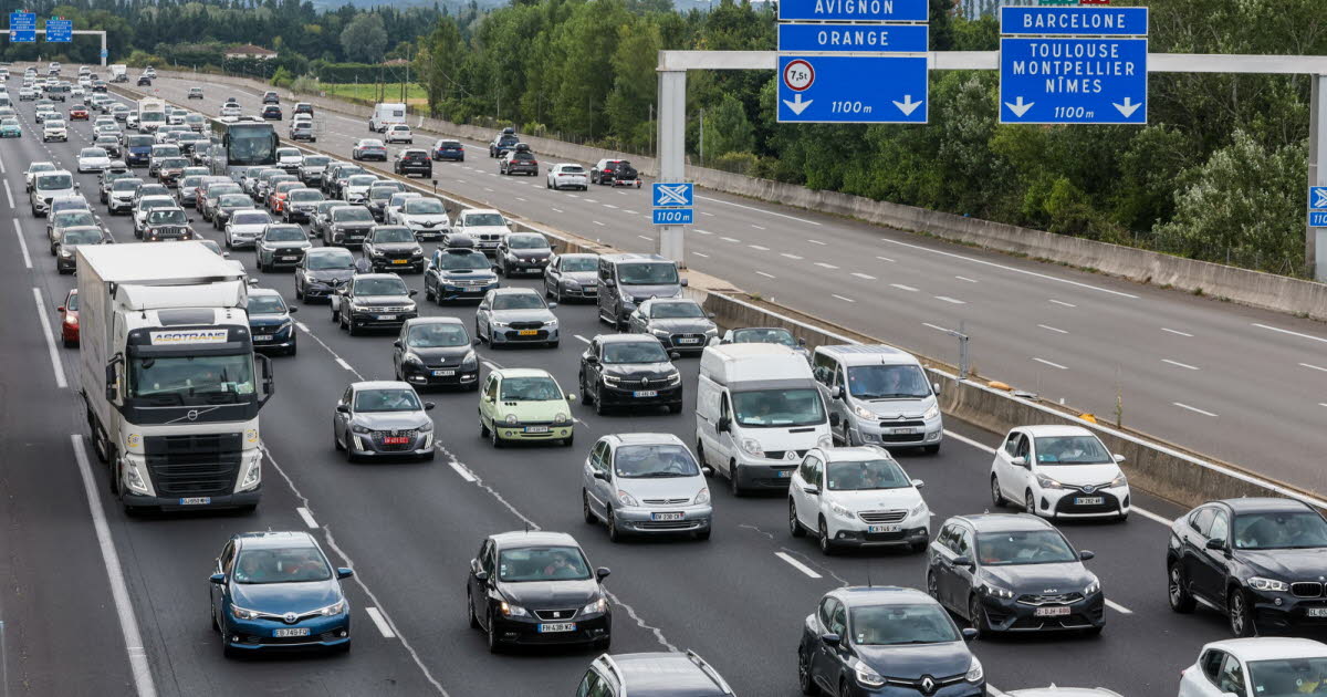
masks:
<svg viewBox="0 0 1327 697"><path fill-rule="evenodd" d="M827 555L900 544L924 551L932 512L921 486L884 447L813 447L788 482L788 531L811 530Z"/></svg>

